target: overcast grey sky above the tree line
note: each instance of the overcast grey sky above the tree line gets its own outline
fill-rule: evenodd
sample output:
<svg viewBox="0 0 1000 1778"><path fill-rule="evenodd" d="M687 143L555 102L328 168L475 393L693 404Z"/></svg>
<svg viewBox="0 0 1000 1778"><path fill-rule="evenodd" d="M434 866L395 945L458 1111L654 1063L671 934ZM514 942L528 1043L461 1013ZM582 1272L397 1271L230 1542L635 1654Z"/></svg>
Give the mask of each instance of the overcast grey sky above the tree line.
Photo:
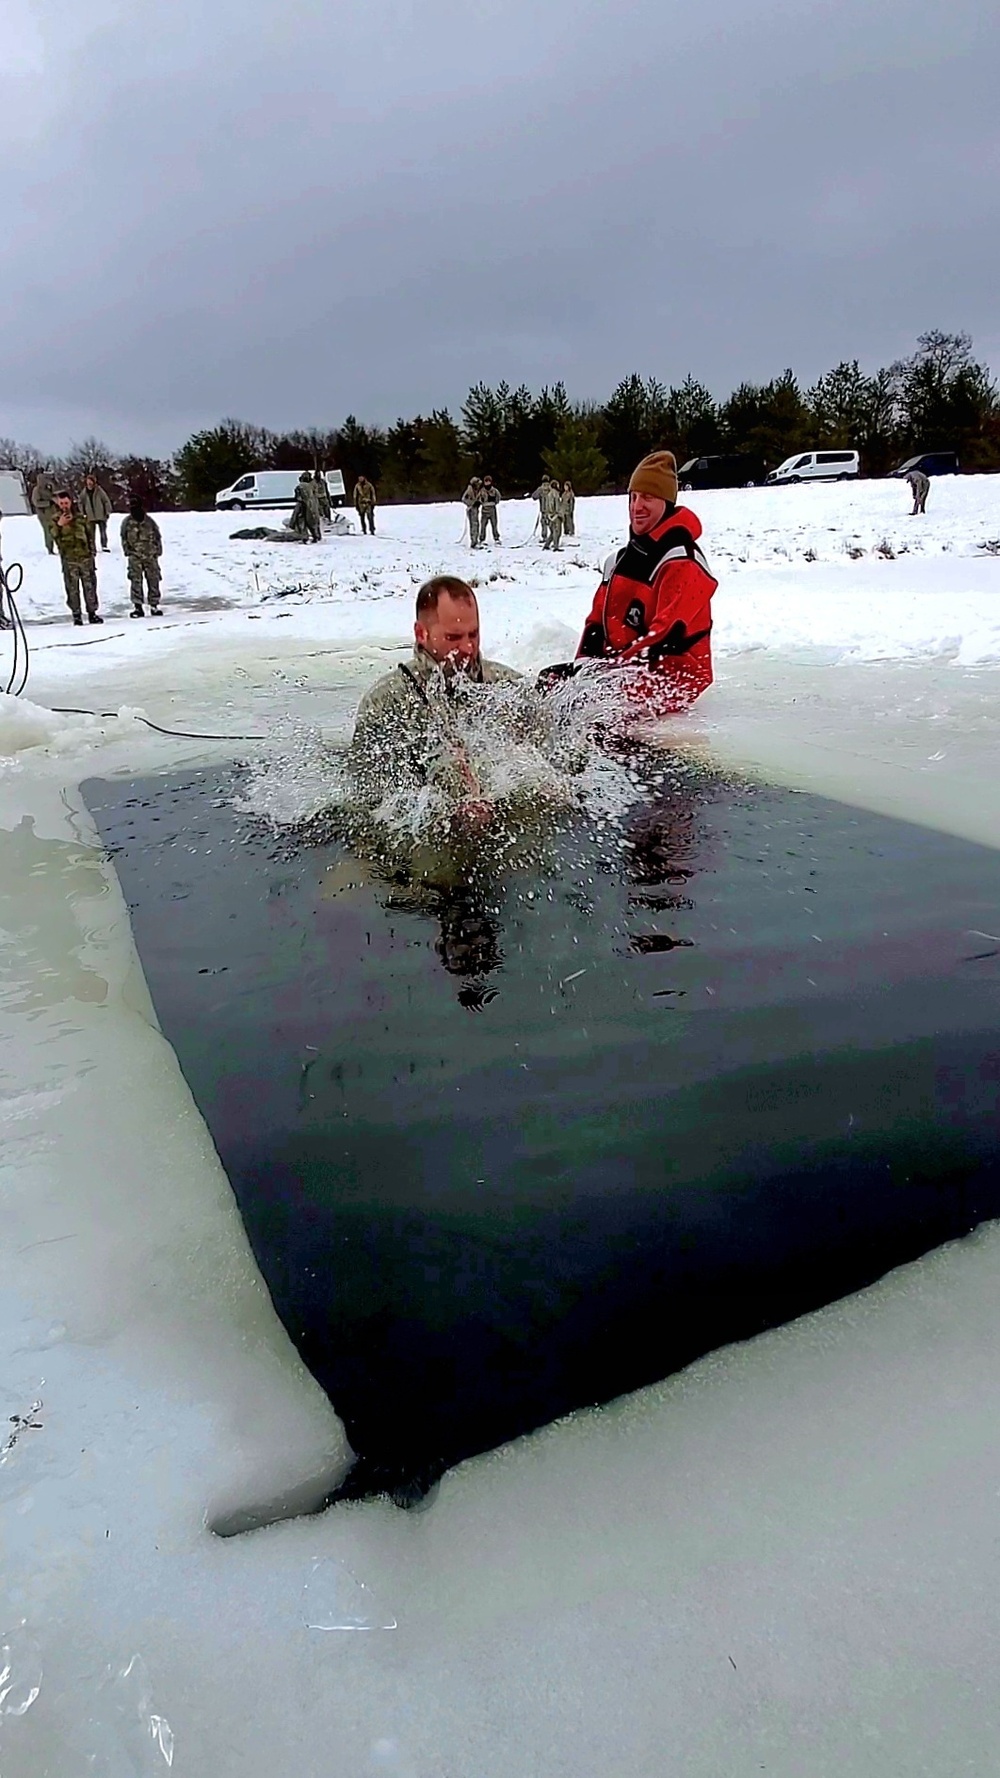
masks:
<svg viewBox="0 0 1000 1778"><path fill-rule="evenodd" d="M1000 370L984 0L0 0L0 434Z"/></svg>

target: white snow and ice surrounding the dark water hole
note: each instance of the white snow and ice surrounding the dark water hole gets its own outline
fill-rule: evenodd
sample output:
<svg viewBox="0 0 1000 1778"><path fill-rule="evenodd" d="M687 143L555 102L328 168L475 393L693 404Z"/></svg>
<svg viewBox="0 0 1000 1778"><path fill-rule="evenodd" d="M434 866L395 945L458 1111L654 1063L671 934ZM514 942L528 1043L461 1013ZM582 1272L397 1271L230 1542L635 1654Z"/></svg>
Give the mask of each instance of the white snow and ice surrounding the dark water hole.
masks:
<svg viewBox="0 0 1000 1778"><path fill-rule="evenodd" d="M665 740L1000 846L1000 477L934 482L925 519L895 482L690 503L717 685ZM566 658L625 501L580 501L557 558L530 503L500 517L470 557L457 505L308 548L167 514L158 624L128 621L116 519L84 631L36 521L4 521L32 651L0 702L4 1778L996 1771L995 1227L466 1463L422 1513L295 1517L343 1433L77 786L343 738L434 571L477 578L486 653Z"/></svg>

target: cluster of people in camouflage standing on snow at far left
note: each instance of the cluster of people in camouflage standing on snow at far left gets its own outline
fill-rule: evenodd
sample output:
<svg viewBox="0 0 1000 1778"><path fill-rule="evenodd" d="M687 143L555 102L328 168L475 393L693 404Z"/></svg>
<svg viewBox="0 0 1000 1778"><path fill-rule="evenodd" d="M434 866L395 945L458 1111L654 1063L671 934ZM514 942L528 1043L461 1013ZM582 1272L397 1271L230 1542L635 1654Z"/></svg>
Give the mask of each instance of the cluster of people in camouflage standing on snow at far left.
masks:
<svg viewBox="0 0 1000 1778"><path fill-rule="evenodd" d="M55 477L43 469L32 487L32 509L41 525L44 548L59 555L66 603L73 622L103 624L98 599L98 535L101 553L110 551L107 526L112 501L96 475L89 471L78 493L60 489ZM121 549L128 565L132 617L160 615L160 557L164 539L160 526L146 512L141 500L132 500L128 516L121 521Z"/></svg>

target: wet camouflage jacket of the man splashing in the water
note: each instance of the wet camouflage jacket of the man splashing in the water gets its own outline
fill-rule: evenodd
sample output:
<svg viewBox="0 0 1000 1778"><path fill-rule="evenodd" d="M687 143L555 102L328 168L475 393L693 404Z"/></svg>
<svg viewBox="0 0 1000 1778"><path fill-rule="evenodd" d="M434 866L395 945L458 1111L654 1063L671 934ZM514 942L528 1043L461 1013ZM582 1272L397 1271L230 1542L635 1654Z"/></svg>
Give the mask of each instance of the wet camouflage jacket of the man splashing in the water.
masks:
<svg viewBox="0 0 1000 1778"><path fill-rule="evenodd" d="M500 661L480 660L473 683L520 679ZM464 752L456 734L457 676L447 674L423 649L406 667L377 679L365 692L354 718L347 766L358 798L377 809L393 789L432 784L450 800L470 795Z"/></svg>

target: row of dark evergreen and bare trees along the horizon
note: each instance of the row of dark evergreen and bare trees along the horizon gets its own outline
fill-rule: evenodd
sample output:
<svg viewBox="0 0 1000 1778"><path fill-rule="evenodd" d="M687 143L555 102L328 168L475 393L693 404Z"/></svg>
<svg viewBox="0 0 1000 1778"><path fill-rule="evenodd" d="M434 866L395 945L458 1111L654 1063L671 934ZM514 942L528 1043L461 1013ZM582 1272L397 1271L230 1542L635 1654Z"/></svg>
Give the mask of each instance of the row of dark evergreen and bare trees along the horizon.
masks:
<svg viewBox="0 0 1000 1778"><path fill-rule="evenodd" d="M632 373L609 400L573 402L562 382L534 395L525 386L477 382L454 418L270 432L222 420L196 432L173 459L119 455L100 439L62 459L0 439L0 466L39 469L77 482L96 469L116 500L148 509L212 507L215 493L247 469L342 469L377 484L383 501L454 500L470 475L493 475L505 494L530 491L548 471L577 493L614 493L637 461L673 450L678 464L714 452L744 453L774 468L792 452L851 446L868 475L884 475L920 450L957 450L964 469L1000 469L1000 396L964 332L925 332L904 359L865 373L858 359L836 364L802 389L792 370L770 382L742 382L719 402L696 377L667 386Z"/></svg>

